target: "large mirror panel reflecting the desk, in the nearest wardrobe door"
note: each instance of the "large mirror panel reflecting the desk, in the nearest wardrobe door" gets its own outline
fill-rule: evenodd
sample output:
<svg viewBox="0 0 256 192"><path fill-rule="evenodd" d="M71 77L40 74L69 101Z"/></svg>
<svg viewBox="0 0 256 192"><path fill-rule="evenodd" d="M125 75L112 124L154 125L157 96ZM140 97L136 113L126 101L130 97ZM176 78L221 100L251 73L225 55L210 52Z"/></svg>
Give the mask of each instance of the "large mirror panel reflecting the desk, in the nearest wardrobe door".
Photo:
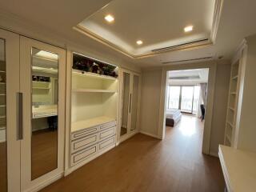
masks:
<svg viewBox="0 0 256 192"><path fill-rule="evenodd" d="M58 54L31 51L31 180L58 168Z"/></svg>

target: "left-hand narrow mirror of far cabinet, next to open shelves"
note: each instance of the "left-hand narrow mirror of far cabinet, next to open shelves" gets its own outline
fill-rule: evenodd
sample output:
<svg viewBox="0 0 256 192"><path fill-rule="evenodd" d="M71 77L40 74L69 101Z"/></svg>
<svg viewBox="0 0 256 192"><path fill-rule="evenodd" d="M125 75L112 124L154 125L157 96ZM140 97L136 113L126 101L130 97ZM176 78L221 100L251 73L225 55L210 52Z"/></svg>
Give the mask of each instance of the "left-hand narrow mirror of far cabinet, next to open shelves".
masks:
<svg viewBox="0 0 256 192"><path fill-rule="evenodd" d="M120 135L127 134L128 129L128 113L130 100L130 74L123 73L123 89L122 89L122 124Z"/></svg>

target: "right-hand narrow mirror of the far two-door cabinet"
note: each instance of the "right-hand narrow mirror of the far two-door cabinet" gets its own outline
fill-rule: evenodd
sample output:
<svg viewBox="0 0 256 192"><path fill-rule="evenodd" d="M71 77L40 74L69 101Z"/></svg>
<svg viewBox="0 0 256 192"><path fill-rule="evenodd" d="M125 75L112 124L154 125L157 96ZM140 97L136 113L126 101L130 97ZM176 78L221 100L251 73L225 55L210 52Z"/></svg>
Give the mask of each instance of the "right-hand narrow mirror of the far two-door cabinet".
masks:
<svg viewBox="0 0 256 192"><path fill-rule="evenodd" d="M134 74L130 130L135 130L137 128L138 83L139 83L138 75Z"/></svg>

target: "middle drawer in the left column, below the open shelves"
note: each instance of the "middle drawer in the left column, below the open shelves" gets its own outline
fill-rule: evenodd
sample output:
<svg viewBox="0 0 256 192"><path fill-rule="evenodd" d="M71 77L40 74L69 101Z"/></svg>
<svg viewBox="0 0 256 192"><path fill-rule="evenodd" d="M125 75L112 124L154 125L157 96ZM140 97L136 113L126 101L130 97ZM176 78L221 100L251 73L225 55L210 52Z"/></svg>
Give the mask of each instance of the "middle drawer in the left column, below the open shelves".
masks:
<svg viewBox="0 0 256 192"><path fill-rule="evenodd" d="M73 154L74 152L78 150L83 150L87 146L91 146L98 142L98 134L90 134L84 138L79 138L77 140L74 140L71 142L71 153Z"/></svg>

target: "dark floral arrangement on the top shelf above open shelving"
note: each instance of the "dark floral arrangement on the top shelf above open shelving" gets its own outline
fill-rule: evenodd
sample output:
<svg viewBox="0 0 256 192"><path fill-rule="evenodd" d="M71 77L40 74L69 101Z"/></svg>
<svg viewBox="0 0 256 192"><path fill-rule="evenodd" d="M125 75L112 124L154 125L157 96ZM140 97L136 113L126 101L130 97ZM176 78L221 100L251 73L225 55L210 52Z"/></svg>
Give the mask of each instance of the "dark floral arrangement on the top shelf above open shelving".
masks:
<svg viewBox="0 0 256 192"><path fill-rule="evenodd" d="M118 77L116 72L117 66L96 61L92 58L86 58L80 54L73 54L73 69L82 70L83 72L91 72L95 74L104 74L111 77Z"/></svg>

